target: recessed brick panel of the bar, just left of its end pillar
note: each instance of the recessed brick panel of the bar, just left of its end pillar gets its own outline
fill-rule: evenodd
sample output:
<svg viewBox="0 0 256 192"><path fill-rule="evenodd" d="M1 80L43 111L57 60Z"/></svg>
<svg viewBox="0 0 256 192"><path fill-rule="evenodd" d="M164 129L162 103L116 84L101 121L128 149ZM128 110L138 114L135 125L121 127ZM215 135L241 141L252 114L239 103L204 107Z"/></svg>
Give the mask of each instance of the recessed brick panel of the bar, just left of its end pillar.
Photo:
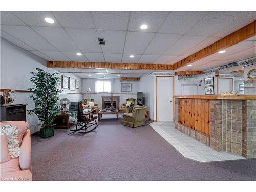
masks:
<svg viewBox="0 0 256 192"><path fill-rule="evenodd" d="M242 156L242 100L222 100L222 151Z"/></svg>

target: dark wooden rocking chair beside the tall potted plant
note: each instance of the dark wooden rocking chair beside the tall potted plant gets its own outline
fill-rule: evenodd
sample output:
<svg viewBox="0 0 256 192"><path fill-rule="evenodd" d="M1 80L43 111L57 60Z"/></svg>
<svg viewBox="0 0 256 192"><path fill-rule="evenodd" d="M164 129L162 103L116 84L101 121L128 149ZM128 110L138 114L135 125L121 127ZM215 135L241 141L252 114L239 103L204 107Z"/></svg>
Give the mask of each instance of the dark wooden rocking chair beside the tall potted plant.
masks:
<svg viewBox="0 0 256 192"><path fill-rule="evenodd" d="M92 110L88 113L83 113L83 109L82 109L82 102L78 102L78 113L77 113L77 123L76 123L76 129L75 130L70 130L72 132L77 132L80 131L82 129L84 129L83 132L78 132L78 133L89 133L93 130L95 130L98 127L97 121L96 119L98 118L97 116L93 116L93 113L96 110ZM89 126L88 126L89 125ZM95 127L92 127L96 125ZM78 129L77 127L80 126ZM87 130L89 127L92 127L92 129L90 129L89 131Z"/></svg>

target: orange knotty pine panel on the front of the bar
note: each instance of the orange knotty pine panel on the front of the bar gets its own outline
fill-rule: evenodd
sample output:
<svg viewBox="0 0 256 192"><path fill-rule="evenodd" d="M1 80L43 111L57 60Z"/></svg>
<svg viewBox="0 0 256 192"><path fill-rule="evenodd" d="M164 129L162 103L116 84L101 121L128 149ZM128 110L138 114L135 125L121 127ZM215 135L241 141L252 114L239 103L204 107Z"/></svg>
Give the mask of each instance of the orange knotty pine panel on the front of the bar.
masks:
<svg viewBox="0 0 256 192"><path fill-rule="evenodd" d="M205 135L210 135L209 110L208 99L180 99L181 123Z"/></svg>

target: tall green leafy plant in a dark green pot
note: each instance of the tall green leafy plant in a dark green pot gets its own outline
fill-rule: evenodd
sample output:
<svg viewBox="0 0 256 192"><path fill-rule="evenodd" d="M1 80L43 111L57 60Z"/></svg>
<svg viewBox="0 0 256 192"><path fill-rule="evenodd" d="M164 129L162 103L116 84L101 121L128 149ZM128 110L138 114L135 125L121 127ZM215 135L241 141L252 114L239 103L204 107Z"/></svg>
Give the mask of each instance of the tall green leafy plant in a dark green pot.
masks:
<svg viewBox="0 0 256 192"><path fill-rule="evenodd" d="M33 94L29 96L35 104L34 109L28 110L29 115L37 115L41 123L40 136L47 138L54 136L54 117L58 111L58 94L61 92L58 89L60 78L58 73L47 73L42 69L36 68L37 73L31 72L34 77L29 80L34 83L34 88L29 88Z"/></svg>

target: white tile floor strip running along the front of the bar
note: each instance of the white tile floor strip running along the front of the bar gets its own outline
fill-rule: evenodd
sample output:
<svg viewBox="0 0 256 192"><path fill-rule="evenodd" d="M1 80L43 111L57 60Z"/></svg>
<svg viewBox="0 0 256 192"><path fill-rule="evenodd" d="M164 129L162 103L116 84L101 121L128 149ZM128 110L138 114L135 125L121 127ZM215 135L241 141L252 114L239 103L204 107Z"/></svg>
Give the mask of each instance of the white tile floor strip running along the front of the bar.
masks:
<svg viewBox="0 0 256 192"><path fill-rule="evenodd" d="M173 121L154 122L150 125L186 158L199 162L245 159L242 156L213 150L209 146L175 129Z"/></svg>

